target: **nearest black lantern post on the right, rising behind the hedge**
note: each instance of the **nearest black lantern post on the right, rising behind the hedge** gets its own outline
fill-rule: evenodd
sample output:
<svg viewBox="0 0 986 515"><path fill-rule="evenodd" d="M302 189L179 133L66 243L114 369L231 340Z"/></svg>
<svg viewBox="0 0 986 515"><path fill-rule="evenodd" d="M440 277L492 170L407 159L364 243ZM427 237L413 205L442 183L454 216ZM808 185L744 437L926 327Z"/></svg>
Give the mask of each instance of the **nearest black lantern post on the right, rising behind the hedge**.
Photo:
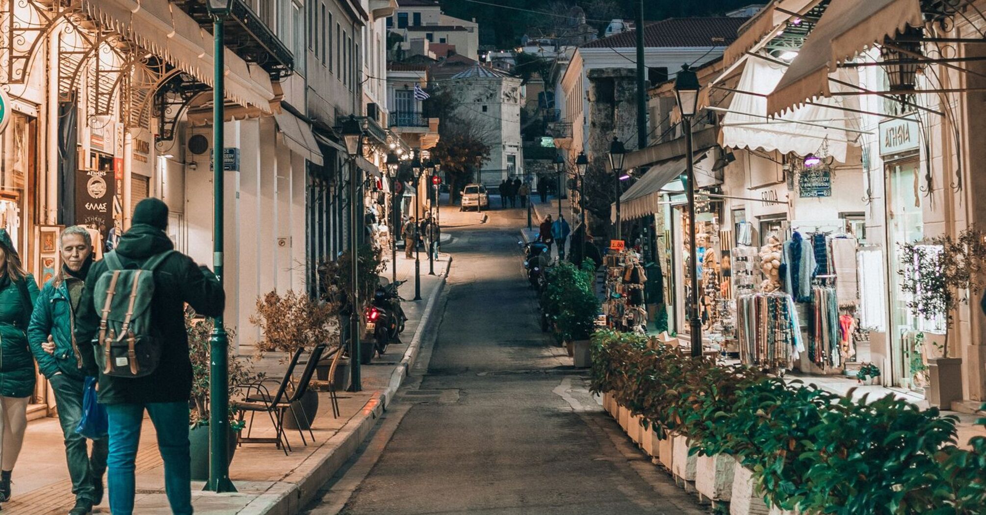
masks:
<svg viewBox="0 0 986 515"><path fill-rule="evenodd" d="M689 332L691 333L691 355L692 357L702 356L702 321L698 318L698 251L695 236L698 234L698 227L695 225L695 156L692 150L691 140L691 118L698 110L698 92L702 86L698 83L698 76L687 64L681 65L677 78L674 80L674 94L677 96L678 110L681 110L681 128L684 131L685 148L685 173L686 183L685 193L688 197L688 223L691 226L688 238L688 275L691 278L691 317L689 318Z"/></svg>

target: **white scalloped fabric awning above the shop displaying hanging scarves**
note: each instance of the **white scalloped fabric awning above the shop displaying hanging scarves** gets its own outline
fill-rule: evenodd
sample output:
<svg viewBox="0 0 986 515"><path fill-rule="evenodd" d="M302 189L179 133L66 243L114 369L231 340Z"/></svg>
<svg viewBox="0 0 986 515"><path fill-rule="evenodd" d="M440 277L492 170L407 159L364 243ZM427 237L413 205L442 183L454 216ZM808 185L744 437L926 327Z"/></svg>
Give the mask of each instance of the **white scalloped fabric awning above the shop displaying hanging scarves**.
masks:
<svg viewBox="0 0 986 515"><path fill-rule="evenodd" d="M751 57L746 60L737 89L765 95L774 89L784 71L783 66ZM841 100L829 98L818 102L833 108L802 106L776 118L768 118L767 99L760 95L737 93L733 96L720 133L723 147L768 152L776 150L805 156L817 154L822 142L827 139L827 154L840 163L846 162L848 138L844 129L847 116L853 114L834 109ZM850 121L850 124L858 122Z"/></svg>

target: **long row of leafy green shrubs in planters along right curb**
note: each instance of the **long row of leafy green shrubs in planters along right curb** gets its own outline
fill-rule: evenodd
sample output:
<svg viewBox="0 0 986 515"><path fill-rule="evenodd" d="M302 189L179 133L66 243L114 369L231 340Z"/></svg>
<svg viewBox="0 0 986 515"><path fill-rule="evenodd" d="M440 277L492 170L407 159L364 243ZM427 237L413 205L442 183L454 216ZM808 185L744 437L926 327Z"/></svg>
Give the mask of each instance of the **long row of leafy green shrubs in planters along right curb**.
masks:
<svg viewBox="0 0 986 515"><path fill-rule="evenodd" d="M853 400L691 358L640 334L598 331L592 352L593 391L653 455L673 440L680 452L667 461L681 462L669 467L675 476L695 480L697 457L708 474L751 482L748 491L774 512L986 511L986 437L957 447L955 417L937 408L893 396ZM668 466L665 456L661 462Z"/></svg>

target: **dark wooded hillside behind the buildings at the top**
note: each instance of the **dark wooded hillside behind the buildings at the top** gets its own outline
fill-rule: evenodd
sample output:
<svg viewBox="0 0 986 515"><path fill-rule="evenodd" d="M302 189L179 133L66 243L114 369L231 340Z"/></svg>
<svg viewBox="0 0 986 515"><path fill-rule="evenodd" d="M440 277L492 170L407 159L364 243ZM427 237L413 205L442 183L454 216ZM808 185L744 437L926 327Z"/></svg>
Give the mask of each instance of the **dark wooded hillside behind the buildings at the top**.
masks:
<svg viewBox="0 0 986 515"><path fill-rule="evenodd" d="M609 20L633 19L639 0L440 0L442 10L450 16L472 20L479 24L479 43L507 48L520 42L528 28L534 27L550 33L552 26L565 23L565 15L572 7L581 7L589 25L599 33ZM734 9L757 3L751 0L644 0L645 20L688 16L721 15ZM759 3L766 3L763 0ZM496 4L496 5L488 5ZM510 9L511 7L537 11L535 13ZM550 16L542 13L554 13Z"/></svg>

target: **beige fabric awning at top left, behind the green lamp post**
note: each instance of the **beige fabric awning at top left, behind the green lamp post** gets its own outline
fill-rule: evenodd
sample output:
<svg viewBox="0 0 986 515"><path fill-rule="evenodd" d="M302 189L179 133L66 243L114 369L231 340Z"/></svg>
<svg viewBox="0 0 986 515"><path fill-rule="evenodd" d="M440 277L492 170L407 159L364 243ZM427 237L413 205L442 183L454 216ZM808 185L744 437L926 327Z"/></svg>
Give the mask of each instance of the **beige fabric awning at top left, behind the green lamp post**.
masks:
<svg viewBox="0 0 986 515"><path fill-rule="evenodd" d="M212 35L168 0L82 0L83 9L106 27L172 63L197 81L213 84ZM242 106L270 112L270 76L225 49L225 95Z"/></svg>

